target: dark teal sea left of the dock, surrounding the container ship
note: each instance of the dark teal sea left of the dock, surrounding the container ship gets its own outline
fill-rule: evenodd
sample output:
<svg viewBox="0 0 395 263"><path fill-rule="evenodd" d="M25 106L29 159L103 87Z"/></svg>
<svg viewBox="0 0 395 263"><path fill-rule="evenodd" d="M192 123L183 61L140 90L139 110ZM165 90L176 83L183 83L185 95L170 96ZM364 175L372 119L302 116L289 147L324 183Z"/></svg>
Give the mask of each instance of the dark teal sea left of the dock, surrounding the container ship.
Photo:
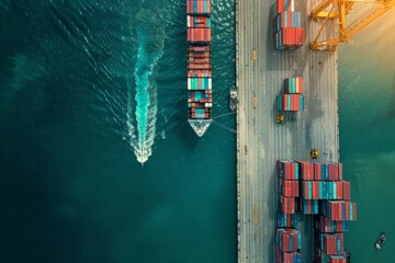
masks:
<svg viewBox="0 0 395 263"><path fill-rule="evenodd" d="M214 116L233 5L213 4ZM235 135L187 123L185 10L0 0L0 262L236 262Z"/></svg>

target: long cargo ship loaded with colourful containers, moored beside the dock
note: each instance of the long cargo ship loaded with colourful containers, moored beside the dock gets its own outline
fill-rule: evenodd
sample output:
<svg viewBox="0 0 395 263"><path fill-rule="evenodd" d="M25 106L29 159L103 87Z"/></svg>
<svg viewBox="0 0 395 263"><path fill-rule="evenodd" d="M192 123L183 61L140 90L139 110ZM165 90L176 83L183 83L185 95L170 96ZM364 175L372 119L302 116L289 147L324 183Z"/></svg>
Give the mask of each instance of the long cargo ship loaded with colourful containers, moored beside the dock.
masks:
<svg viewBox="0 0 395 263"><path fill-rule="evenodd" d="M202 137L212 123L211 1L187 0L188 122Z"/></svg>

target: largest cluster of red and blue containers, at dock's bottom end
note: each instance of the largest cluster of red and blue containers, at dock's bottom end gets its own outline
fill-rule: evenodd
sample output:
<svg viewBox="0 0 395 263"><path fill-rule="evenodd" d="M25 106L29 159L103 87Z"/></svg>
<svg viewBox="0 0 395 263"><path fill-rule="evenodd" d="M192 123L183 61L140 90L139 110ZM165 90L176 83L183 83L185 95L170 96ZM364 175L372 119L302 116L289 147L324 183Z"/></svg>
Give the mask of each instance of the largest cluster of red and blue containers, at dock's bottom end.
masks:
<svg viewBox="0 0 395 263"><path fill-rule="evenodd" d="M347 263L343 232L348 230L349 220L357 220L357 205L349 201L350 183L342 180L341 163L290 160L278 161L278 228L296 228L298 211L302 215L314 215L314 262ZM297 182L300 192L295 190L294 183L290 182ZM290 199L291 197L294 199ZM284 256L279 255L284 244L279 242L278 230L276 262L285 262Z"/></svg>

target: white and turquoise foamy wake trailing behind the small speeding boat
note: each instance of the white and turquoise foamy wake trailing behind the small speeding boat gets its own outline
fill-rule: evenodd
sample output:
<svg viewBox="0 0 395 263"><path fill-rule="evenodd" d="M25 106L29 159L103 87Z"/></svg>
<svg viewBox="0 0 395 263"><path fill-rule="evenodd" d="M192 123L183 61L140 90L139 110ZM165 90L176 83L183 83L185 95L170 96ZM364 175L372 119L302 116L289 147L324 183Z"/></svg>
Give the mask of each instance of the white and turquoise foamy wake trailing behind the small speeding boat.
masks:
<svg viewBox="0 0 395 263"><path fill-rule="evenodd" d="M157 119L156 66L163 55L165 28L156 15L142 9L137 13L137 60L135 84L128 83L127 133L137 161L144 163L153 153ZM134 98L133 98L134 96Z"/></svg>

